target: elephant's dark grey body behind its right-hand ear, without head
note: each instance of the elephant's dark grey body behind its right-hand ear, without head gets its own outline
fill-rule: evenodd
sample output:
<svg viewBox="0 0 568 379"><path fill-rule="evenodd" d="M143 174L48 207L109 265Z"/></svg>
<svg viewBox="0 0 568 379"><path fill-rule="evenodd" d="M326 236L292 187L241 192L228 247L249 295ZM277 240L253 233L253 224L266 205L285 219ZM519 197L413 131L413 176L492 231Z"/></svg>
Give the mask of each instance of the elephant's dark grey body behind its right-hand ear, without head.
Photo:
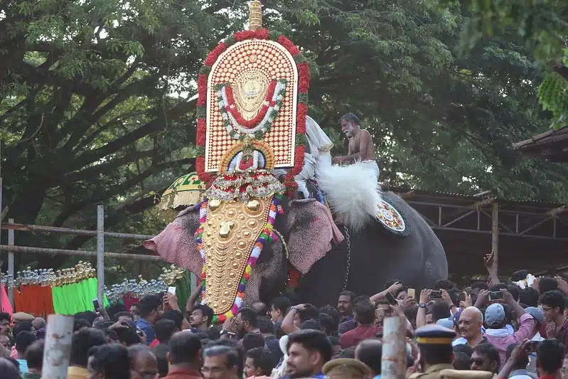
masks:
<svg viewBox="0 0 568 379"><path fill-rule="evenodd" d="M343 242L301 278L296 290L302 301L335 304L343 289L372 296L385 289L389 279L417 289L432 288L437 280L447 279L444 247L428 223L395 193L383 192L382 199L395 205L409 235L389 233L378 223L358 233L343 228Z"/></svg>

